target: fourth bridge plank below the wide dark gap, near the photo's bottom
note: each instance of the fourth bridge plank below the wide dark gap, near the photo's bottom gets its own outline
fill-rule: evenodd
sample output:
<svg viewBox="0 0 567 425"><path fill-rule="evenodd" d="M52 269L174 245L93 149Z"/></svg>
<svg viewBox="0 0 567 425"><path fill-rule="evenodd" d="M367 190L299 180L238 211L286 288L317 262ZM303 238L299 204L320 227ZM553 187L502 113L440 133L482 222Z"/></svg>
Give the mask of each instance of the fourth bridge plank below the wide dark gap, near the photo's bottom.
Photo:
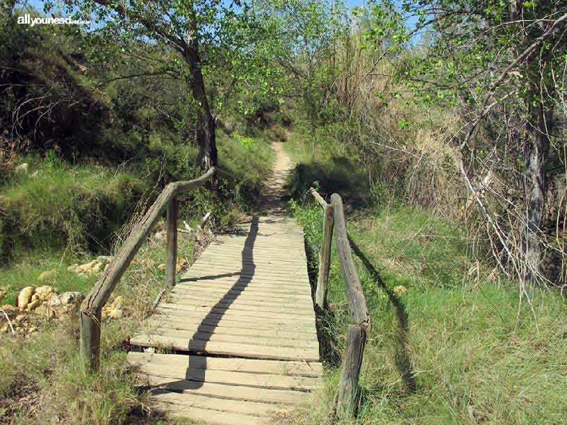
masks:
<svg viewBox="0 0 567 425"><path fill-rule="evenodd" d="M186 415L191 413L188 412L188 408L217 410L223 413L241 413L252 415L254 417L252 419L272 417L276 412L286 412L291 408L286 405L278 406L276 404L258 403L257 401L221 400L199 394L179 394L178 392L155 394L151 396L151 401L168 414L183 417L187 417ZM198 417L198 419L202 420L201 417Z"/></svg>

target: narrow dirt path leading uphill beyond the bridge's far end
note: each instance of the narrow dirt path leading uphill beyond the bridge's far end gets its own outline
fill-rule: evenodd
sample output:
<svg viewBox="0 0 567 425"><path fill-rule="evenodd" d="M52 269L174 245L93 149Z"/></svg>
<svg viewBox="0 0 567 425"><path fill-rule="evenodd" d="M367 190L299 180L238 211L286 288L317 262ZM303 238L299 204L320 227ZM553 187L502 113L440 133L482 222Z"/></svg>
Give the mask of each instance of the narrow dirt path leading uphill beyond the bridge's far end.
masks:
<svg viewBox="0 0 567 425"><path fill-rule="evenodd" d="M276 153L276 160L272 167L272 175L266 181L262 195L262 210L266 214L280 215L285 211L281 197L288 194L284 188L293 162L284 150L283 142L273 142L272 149Z"/></svg>

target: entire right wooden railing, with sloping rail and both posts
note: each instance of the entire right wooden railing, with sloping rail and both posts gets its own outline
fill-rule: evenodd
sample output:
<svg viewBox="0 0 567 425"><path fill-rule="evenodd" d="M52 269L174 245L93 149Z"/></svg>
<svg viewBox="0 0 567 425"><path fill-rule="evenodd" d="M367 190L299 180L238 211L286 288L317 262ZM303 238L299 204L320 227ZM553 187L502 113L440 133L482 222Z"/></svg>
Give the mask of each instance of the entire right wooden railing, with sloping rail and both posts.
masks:
<svg viewBox="0 0 567 425"><path fill-rule="evenodd" d="M343 358L343 374L340 376L338 387L338 412L343 416L352 416L359 394L359 375L362 356L366 344L366 333L370 328L370 315L366 308L366 299L362 291L359 274L352 258L348 242L347 224L343 200L338 194L331 195L331 204L327 203L315 189L309 192L324 208L323 242L320 251L319 276L315 290L315 302L321 308L327 305L327 288L329 285L329 265L331 262L331 238L335 227L336 247L340 270L345 278L345 292L349 300L350 311L354 324L347 330L345 356ZM330 217L330 218L329 218Z"/></svg>

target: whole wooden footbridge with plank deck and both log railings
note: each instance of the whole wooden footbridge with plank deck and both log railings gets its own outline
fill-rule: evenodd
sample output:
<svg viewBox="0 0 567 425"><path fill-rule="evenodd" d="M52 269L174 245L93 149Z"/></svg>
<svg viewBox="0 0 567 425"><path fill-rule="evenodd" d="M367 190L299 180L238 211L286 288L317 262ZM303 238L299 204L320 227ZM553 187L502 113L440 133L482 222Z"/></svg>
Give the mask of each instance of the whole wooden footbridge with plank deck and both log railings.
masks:
<svg viewBox="0 0 567 425"><path fill-rule="evenodd" d="M278 424L297 404L309 403L322 374L303 231L281 214L281 185L274 185L265 203L268 215L249 217L236 231L217 236L176 282L176 195L213 175L229 177L211 169L194 181L167 185L134 228L81 306L81 356L88 370L99 367L101 308L167 209L171 297L132 336L130 344L140 349L128 353L128 362L151 390L153 406L167 415L197 423ZM324 308L333 206L314 196L324 207L317 290L317 303ZM337 246L343 253L346 243L340 259L341 265L347 259L343 272L357 322L347 334L340 385L341 410L348 414L356 402L369 318L346 242L342 203L336 216L343 222L336 226Z"/></svg>

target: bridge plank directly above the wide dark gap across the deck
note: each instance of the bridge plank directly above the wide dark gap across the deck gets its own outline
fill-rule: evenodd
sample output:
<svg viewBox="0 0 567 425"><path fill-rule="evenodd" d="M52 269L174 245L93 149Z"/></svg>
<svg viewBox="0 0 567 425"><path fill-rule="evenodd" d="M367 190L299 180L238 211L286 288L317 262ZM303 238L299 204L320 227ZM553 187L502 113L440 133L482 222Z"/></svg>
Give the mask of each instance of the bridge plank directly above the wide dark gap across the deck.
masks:
<svg viewBox="0 0 567 425"><path fill-rule="evenodd" d="M188 341L185 338L172 338L160 335L137 335L136 338L131 339L130 343L142 347L164 347L181 351L221 354L223 356L273 358L275 360L305 360L308 362L319 361L318 349L287 347L274 349L274 347L271 346L235 344L232 342Z"/></svg>

